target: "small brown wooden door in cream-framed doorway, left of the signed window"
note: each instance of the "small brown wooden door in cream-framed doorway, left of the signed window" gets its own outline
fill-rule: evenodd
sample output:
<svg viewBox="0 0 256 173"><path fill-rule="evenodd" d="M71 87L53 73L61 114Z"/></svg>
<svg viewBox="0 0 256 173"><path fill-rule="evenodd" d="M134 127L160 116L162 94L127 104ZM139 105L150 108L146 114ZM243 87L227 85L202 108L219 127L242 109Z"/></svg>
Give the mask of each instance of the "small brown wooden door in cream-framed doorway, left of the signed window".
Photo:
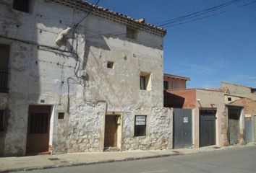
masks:
<svg viewBox="0 0 256 173"><path fill-rule="evenodd" d="M117 143L117 128L116 115L106 115L105 120L105 140L104 147L115 147Z"/></svg>

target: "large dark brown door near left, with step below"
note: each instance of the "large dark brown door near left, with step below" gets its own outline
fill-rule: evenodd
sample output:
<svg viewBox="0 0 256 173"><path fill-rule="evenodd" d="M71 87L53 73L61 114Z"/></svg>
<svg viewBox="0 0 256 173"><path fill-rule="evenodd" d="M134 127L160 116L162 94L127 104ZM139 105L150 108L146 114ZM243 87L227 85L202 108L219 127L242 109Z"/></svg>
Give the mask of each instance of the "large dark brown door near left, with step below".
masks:
<svg viewBox="0 0 256 173"><path fill-rule="evenodd" d="M30 106L27 127L27 155L48 154L51 106Z"/></svg>

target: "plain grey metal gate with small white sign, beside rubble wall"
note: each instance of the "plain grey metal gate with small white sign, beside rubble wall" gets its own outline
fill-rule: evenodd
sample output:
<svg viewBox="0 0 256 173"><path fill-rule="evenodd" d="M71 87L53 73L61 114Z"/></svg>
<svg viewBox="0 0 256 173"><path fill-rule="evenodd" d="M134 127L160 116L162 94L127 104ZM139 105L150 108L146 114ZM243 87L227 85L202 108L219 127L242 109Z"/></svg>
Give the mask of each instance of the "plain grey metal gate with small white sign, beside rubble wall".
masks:
<svg viewBox="0 0 256 173"><path fill-rule="evenodd" d="M192 146L192 110L174 108L174 148Z"/></svg>

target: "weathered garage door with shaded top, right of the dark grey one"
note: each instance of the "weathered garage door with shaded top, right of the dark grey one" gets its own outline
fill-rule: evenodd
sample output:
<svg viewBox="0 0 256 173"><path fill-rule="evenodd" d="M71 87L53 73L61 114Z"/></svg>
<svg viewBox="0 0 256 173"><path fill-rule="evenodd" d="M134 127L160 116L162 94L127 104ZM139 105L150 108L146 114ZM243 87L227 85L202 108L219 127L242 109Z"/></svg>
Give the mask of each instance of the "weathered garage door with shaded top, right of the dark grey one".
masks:
<svg viewBox="0 0 256 173"><path fill-rule="evenodd" d="M240 114L241 108L229 108L229 143L231 145L240 141Z"/></svg>

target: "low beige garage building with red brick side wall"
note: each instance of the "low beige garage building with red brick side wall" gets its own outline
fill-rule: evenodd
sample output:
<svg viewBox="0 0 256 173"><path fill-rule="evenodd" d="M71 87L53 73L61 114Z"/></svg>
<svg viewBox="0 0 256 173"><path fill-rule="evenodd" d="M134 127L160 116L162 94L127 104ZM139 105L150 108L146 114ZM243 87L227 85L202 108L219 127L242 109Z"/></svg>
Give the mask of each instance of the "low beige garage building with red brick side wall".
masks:
<svg viewBox="0 0 256 173"><path fill-rule="evenodd" d="M244 143L243 107L226 104L223 92L166 90L164 106L192 110L192 143L195 148Z"/></svg>

